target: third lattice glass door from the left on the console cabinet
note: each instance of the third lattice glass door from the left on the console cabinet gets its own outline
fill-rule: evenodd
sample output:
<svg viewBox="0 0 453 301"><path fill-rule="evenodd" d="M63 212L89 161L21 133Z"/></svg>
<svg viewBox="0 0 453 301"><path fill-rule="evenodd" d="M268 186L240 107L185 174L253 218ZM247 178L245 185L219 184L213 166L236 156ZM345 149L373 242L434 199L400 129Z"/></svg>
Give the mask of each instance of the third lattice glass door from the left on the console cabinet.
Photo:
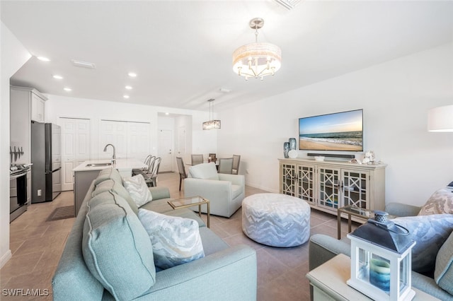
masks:
<svg viewBox="0 0 453 301"><path fill-rule="evenodd" d="M340 169L320 166L318 175L318 206L337 211L341 207Z"/></svg>

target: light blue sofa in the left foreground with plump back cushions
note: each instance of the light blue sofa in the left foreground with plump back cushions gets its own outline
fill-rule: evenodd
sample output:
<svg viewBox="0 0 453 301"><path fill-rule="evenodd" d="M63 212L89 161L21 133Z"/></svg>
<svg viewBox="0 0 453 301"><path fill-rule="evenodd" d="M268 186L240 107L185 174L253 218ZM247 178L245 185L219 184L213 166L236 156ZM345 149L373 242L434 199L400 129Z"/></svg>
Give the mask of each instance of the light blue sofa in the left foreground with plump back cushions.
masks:
<svg viewBox="0 0 453 301"><path fill-rule="evenodd" d="M99 264L99 266L101 266L101 261L103 260L102 256L105 256L104 259L110 258L108 256L111 255L109 254L111 249L121 249L124 247L126 250L127 248L135 250L143 249L142 246L151 246L151 242L147 241L149 237L143 237L142 235L144 228L139 223L136 214L137 208L133 208L134 206L132 205L129 206L129 203L125 205L124 200L127 199L127 195L125 195L126 190L122 187L119 173L115 169L111 170L113 171L108 176L105 176L107 172L100 172L98 178L91 184L84 203L81 205L81 209L69 234L64 252L52 279L54 300L115 300L110 290L105 289L103 284L98 281L98 278L90 272L86 264L86 258L84 258L84 252L86 252L86 249L84 251L82 250L86 246L84 244L84 232L86 236L87 225L90 225L86 223L86 219L88 219L86 217L87 212L88 214L91 211L96 213L94 210L96 209L98 213L101 213L97 218L102 223L107 224L110 222L109 218L113 211L115 214L119 212L124 215L121 222L124 222L125 226L119 228L117 237L114 232L108 244L96 254L96 259L99 261L96 264ZM96 188L99 189L101 187L101 184L98 183L101 180L113 183L112 188L103 192L103 194L95 196L95 200L95 197L92 197L92 193ZM104 184L103 186L105 186ZM256 252L251 247L245 245L229 247L212 230L205 227L205 223L193 211L188 209L173 210L167 203L170 197L168 189L164 187L151 187L149 189L153 201L145 204L141 208L147 208L170 216L181 216L197 220L200 225L200 236L205 257L162 271L159 271L159 269L154 271L154 261L151 260L151 267L148 268L149 273L145 274L140 273L144 269L144 262L141 261L144 261L144 257L149 258L149 252L152 253L151 247L148 248L149 250L145 247L145 252L142 252L142 255L144 253L144 256L141 257L142 260L137 260L137 256L134 256L135 252L132 252L134 254L127 253L126 256L122 256L117 260L103 262L102 272L106 279L111 276L106 275L110 269L114 271L115 268L120 266L124 271L117 278L127 277L127 281L134 283L127 287L123 286L120 289L115 288L117 295L115 293L113 294L117 296L116 299L159 301L256 300ZM88 202L90 200L91 202ZM93 203L95 201L97 202L95 204L96 207L94 209L90 208L88 211L87 204L94 206ZM103 214L104 212L105 214ZM95 217L90 216L91 220L89 222L96 223L96 221L93 222L93 218ZM125 229L132 229L132 237L128 234L129 232L127 232L126 236L124 235L123 232ZM110 233L110 235L112 234ZM145 235L147 234L145 233ZM134 245L130 245L130 240L134 242ZM149 265L149 263L147 264ZM105 272L105 269L107 272ZM144 281L144 278L149 278L151 281ZM112 282L117 280L113 278ZM125 284L120 283L120 285ZM140 285L142 288L140 288ZM145 285L146 289L143 289L143 285ZM124 297L125 295L127 296L129 291L132 292L134 297Z"/></svg>

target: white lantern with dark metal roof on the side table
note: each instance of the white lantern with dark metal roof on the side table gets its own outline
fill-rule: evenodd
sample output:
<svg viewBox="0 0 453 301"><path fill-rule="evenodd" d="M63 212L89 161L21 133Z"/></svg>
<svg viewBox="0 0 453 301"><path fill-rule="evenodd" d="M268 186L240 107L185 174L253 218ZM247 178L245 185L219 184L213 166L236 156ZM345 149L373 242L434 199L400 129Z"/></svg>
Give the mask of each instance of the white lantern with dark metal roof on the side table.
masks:
<svg viewBox="0 0 453 301"><path fill-rule="evenodd" d="M347 281L374 300L412 300L412 248L408 230L374 211L374 220L348 234L351 240L351 278Z"/></svg>

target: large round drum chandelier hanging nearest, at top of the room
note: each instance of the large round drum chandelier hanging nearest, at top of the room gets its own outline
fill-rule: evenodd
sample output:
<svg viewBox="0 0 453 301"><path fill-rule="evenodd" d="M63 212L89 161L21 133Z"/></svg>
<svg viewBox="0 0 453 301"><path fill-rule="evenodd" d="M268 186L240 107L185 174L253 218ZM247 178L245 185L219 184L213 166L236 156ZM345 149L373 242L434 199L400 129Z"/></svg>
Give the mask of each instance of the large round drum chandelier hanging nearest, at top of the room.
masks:
<svg viewBox="0 0 453 301"><path fill-rule="evenodd" d="M282 65L282 50L277 45L258 43L258 29L264 25L262 18L253 18L248 23L255 30L255 42L243 45L233 52L233 71L239 76L260 78L274 75Z"/></svg>

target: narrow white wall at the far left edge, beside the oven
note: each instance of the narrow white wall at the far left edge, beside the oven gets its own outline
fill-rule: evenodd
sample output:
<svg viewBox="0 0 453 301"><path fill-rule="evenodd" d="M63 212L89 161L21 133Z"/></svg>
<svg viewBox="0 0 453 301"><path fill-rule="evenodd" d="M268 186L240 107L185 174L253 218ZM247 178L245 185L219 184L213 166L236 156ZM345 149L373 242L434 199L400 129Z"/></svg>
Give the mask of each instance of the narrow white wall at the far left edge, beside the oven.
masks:
<svg viewBox="0 0 453 301"><path fill-rule="evenodd" d="M11 258L9 249L9 78L31 55L21 42L0 24L0 268Z"/></svg>

